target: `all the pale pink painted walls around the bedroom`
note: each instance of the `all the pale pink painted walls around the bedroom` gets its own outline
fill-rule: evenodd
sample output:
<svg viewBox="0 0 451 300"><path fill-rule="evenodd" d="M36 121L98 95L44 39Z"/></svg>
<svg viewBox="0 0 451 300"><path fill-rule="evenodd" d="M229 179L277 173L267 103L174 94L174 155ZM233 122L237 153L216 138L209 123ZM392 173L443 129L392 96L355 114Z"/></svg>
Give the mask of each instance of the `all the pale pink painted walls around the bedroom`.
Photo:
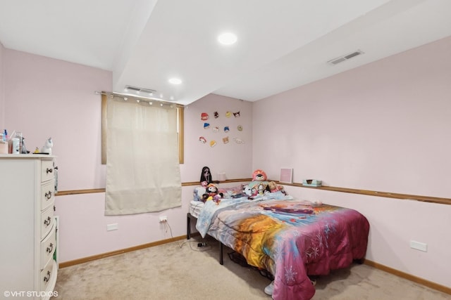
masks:
<svg viewBox="0 0 451 300"><path fill-rule="evenodd" d="M280 167L292 167L297 182L319 178L347 188L450 197L450 50L451 39L443 39L257 103L206 96L185 110L182 180L199 180L204 165L214 176L226 172L228 178L249 177L259 168L277 179ZM60 190L103 188L100 96L94 91L111 90L111 72L0 51L5 102L0 124L23 131L30 150L54 138ZM214 110L240 110L242 119L230 126L242 122L245 144L230 141L209 148L197 141L199 131L214 134L200 129L199 119L200 112ZM288 191L362 211L371 222L368 259L451 286L451 236L442 229L451 228L451 206ZM161 213L174 236L185 234L191 197L192 187L184 187L183 206ZM56 214L61 217L60 261L170 237L157 213L104 216L104 193L56 197ZM118 223L119 230L107 232L109 223ZM410 240L426 242L428 252L410 249Z"/></svg>

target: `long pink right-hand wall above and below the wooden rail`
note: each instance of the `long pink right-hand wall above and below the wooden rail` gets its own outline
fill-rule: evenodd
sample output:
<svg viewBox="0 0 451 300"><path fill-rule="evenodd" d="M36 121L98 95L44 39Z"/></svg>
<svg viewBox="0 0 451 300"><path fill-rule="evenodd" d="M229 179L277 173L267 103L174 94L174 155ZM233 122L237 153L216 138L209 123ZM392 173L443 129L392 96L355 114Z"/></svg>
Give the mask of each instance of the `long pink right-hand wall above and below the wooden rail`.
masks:
<svg viewBox="0 0 451 300"><path fill-rule="evenodd" d="M270 178L291 167L295 182L451 197L450 53L451 37L254 103L253 167ZM367 259L451 286L451 205L288 190L362 211Z"/></svg>

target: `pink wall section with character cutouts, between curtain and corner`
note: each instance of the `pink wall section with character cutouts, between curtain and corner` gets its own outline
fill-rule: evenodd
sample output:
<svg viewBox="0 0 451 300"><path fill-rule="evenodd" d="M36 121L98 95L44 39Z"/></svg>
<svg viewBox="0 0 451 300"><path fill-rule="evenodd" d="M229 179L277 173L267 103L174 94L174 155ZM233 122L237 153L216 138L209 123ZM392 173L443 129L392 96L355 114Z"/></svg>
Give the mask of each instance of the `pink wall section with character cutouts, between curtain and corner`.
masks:
<svg viewBox="0 0 451 300"><path fill-rule="evenodd" d="M218 112L218 118L214 112ZM226 112L240 112L240 117L226 117ZM206 112L211 124L204 129L201 113ZM242 126L242 131L237 126ZM219 131L212 128L219 126ZM223 127L230 131L225 133ZM199 136L204 136L206 144L199 142ZM229 143L224 144L222 138L228 136ZM240 138L245 143L236 143L234 138ZM209 141L217 144L210 147ZM228 178L252 177L252 103L235 98L218 95L208 95L185 108L185 164L180 165L182 181L199 181L202 167L208 166L214 179L218 173L226 173Z"/></svg>

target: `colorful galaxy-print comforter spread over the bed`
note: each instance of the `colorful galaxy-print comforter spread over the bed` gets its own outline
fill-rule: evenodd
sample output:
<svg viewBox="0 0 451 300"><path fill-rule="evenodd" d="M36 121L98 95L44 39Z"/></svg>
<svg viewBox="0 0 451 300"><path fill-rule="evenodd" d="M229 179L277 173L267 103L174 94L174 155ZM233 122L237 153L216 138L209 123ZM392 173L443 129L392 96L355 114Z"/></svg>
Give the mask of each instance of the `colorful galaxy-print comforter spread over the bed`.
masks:
<svg viewBox="0 0 451 300"><path fill-rule="evenodd" d="M369 223L354 209L308 201L247 198L206 202L196 224L274 275L273 299L311 299L308 275L327 275L363 259Z"/></svg>

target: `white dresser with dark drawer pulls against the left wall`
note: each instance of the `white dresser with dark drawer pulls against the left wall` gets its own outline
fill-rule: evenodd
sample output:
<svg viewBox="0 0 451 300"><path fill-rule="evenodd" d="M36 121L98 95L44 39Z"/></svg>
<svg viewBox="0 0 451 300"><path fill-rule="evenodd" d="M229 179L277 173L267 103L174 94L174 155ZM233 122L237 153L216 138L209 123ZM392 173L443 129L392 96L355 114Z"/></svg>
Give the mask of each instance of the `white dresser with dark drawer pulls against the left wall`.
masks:
<svg viewBox="0 0 451 300"><path fill-rule="evenodd" d="M54 156L0 155L0 298L53 295L54 202Z"/></svg>

